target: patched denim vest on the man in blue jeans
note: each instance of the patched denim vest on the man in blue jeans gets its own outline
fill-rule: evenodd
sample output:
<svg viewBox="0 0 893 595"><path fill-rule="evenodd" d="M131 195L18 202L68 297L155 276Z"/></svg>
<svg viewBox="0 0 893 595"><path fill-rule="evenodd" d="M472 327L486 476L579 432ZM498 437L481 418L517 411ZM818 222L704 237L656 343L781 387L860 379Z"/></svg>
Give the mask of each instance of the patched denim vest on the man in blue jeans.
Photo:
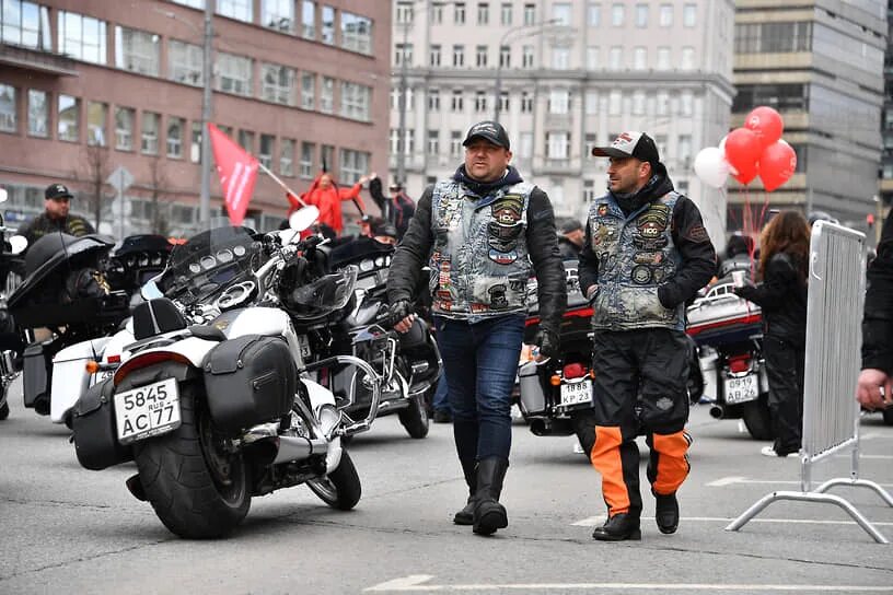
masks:
<svg viewBox="0 0 893 595"><path fill-rule="evenodd" d="M429 261L434 314L475 322L526 312L533 188L522 182L479 197L452 179L434 185Z"/></svg>

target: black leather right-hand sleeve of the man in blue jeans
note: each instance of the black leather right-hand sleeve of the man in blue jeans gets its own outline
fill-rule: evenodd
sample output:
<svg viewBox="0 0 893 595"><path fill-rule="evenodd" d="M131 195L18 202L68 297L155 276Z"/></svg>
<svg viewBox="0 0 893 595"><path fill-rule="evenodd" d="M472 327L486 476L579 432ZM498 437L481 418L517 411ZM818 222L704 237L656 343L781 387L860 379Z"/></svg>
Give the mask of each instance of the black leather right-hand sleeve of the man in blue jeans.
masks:
<svg viewBox="0 0 893 595"><path fill-rule="evenodd" d="M527 250L536 275L540 326L558 335L567 308L567 280L552 202L538 187L531 192L527 206Z"/></svg>

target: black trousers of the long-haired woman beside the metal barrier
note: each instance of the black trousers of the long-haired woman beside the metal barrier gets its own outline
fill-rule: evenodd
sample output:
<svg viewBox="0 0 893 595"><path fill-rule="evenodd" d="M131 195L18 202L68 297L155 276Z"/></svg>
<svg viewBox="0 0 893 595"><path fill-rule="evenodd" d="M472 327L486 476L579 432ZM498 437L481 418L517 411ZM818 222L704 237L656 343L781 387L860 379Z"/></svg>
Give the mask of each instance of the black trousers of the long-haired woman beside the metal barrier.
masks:
<svg viewBox="0 0 893 595"><path fill-rule="evenodd" d="M803 373L805 348L775 337L764 337L763 357L769 381L769 415L775 452L796 453L803 438Z"/></svg>

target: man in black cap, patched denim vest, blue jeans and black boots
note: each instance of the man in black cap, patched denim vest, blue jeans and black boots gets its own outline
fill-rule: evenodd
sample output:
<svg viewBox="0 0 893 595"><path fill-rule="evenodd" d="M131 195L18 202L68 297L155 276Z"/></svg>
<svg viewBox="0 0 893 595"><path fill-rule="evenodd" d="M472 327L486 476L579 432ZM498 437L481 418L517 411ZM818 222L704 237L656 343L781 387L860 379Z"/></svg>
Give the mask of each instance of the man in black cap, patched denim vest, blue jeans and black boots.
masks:
<svg viewBox="0 0 893 595"><path fill-rule="evenodd" d="M429 186L387 277L395 328L405 332L425 265L447 373L456 453L469 498L453 521L479 535L508 526L499 503L511 446L511 392L526 317L527 280L538 280L541 357L557 354L567 303L548 196L509 165L498 122L474 125L465 163ZM532 267L531 267L532 264Z"/></svg>

